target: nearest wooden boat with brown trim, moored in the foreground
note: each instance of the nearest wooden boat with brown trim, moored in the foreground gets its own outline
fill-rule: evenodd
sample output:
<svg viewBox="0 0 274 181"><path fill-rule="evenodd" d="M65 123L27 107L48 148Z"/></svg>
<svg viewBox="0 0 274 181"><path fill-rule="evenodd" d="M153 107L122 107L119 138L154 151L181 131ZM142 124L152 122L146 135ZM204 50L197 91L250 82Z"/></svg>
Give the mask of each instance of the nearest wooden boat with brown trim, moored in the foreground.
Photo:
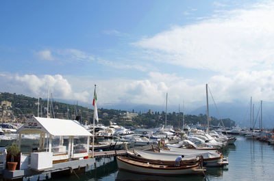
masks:
<svg viewBox="0 0 274 181"><path fill-rule="evenodd" d="M206 171L201 167L201 163L183 164L180 167L175 167L175 164L148 163L125 156L117 156L116 160L119 169L155 176L204 175Z"/></svg>

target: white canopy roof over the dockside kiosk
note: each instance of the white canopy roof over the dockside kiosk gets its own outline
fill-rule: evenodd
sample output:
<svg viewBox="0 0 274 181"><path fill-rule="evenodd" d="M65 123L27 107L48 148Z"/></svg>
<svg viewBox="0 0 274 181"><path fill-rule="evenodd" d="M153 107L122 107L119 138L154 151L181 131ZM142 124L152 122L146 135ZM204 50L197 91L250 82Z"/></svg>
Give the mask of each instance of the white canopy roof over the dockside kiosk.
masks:
<svg viewBox="0 0 274 181"><path fill-rule="evenodd" d="M46 117L32 117L18 133L49 133L53 136L92 136L79 122Z"/></svg>

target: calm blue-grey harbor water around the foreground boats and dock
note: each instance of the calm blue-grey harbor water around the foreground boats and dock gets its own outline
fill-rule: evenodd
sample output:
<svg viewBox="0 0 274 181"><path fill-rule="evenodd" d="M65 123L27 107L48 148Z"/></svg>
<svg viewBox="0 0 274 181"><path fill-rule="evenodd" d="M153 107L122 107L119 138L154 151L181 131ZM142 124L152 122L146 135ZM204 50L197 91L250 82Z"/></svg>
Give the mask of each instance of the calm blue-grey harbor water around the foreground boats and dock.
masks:
<svg viewBox="0 0 274 181"><path fill-rule="evenodd" d="M274 146L237 137L235 145L229 145L223 149L223 154L227 157L229 165L224 168L208 168L205 177L203 176L145 176L127 171L119 171L116 161L101 167L96 171L69 178L59 178L50 180L274 180Z"/></svg>

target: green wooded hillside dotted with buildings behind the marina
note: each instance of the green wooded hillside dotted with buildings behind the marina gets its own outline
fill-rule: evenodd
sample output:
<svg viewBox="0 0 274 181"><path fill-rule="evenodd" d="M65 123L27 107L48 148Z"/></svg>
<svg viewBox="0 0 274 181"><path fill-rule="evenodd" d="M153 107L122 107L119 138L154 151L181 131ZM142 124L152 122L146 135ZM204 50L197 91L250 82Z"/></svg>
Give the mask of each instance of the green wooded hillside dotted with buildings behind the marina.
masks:
<svg viewBox="0 0 274 181"><path fill-rule="evenodd" d="M11 106L1 106L1 115L5 117L5 121L8 120L16 122L25 121L25 117L29 119L33 115L37 116L38 114L38 98L31 98L24 95L10 94L4 92L0 94L0 102L8 101L11 102ZM134 111L134 110L133 110ZM165 112L162 111L149 111L147 113L133 113L129 114L127 111L121 111L116 109L98 109L99 122L105 124L106 126L110 125L110 121L116 122L117 124L123 126L142 126L142 127L156 127L164 124L165 121ZM24 117L25 116L25 117ZM39 116L47 117L47 100L40 98L39 101ZM70 105L63 102L57 102L54 100L49 100L49 116L60 118L60 119L72 119L79 120L82 124L92 123L93 110L88 107L82 107L79 105ZM2 117L2 116L1 116ZM182 126L182 117L183 114L180 113L167 113L166 120L167 124L177 128L180 125ZM185 115L185 124L206 124L207 118L206 115ZM212 117L212 125L220 124L220 120ZM234 126L235 122L230 119L223 120L225 126L230 127ZM8 121L9 122L9 121Z"/></svg>

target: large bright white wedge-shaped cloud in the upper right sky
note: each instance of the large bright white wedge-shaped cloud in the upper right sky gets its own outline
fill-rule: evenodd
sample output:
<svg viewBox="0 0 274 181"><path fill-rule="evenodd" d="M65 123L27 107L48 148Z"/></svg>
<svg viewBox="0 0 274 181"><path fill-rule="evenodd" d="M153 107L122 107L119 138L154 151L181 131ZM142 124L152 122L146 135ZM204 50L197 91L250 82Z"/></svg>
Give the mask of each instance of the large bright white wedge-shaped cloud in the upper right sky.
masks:
<svg viewBox="0 0 274 181"><path fill-rule="evenodd" d="M134 45L151 60L223 74L273 68L274 3L219 12L184 27L173 27Z"/></svg>

